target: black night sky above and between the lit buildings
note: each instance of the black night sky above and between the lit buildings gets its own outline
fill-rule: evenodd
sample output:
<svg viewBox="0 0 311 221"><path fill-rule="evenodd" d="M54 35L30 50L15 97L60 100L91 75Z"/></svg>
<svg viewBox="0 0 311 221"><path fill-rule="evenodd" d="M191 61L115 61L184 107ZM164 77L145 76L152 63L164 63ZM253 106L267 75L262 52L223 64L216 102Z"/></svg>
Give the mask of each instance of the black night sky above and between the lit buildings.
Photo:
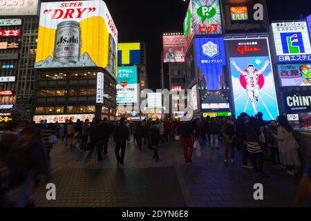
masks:
<svg viewBox="0 0 311 221"><path fill-rule="evenodd" d="M105 0L119 41L147 45L149 88L160 88L160 53L163 32L183 32L189 0ZM309 6L308 6L309 5ZM297 20L311 14L310 0L267 0L270 21Z"/></svg>

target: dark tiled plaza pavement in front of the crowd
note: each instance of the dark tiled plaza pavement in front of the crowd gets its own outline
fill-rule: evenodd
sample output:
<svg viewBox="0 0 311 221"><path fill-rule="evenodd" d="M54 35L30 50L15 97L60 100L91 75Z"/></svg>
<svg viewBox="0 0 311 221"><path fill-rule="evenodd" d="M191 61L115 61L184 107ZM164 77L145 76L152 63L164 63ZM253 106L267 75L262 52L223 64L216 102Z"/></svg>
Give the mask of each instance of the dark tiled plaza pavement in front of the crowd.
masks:
<svg viewBox="0 0 311 221"><path fill-rule="evenodd" d="M290 206L299 177L273 169L266 163L269 179L258 177L236 164L224 166L223 150L202 145L202 156L194 153L185 164L179 143L165 144L159 150L160 162L153 152L135 144L126 148L126 162L117 168L113 142L103 162L96 155L85 161L83 151L57 144L52 151L53 180L57 200L46 200L43 183L34 190L36 206ZM264 200L255 201L253 186L264 186ZM308 203L306 203L308 204Z"/></svg>

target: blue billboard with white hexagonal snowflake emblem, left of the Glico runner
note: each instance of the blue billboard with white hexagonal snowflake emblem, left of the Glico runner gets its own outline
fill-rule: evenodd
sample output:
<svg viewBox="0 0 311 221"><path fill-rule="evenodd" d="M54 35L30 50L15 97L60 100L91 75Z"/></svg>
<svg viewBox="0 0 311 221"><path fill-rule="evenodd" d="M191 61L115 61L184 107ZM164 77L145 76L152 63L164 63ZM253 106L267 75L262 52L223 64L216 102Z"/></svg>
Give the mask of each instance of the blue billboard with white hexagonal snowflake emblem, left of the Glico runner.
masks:
<svg viewBox="0 0 311 221"><path fill-rule="evenodd" d="M220 90L223 66L226 65L223 37L196 38L194 42L197 72L202 86L207 90Z"/></svg>

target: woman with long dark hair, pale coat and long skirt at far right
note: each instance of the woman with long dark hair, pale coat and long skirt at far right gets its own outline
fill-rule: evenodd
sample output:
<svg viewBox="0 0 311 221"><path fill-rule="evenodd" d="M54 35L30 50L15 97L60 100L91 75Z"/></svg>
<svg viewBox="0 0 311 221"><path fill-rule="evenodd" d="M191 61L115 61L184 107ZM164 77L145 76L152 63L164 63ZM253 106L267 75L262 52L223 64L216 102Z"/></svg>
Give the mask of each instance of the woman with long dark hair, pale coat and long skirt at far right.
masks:
<svg viewBox="0 0 311 221"><path fill-rule="evenodd" d="M297 152L299 144L292 135L294 128L290 126L288 119L283 115L277 118L277 122L279 124L278 144L281 164L287 167L288 175L296 175L298 173L296 168L301 166L301 162Z"/></svg>

